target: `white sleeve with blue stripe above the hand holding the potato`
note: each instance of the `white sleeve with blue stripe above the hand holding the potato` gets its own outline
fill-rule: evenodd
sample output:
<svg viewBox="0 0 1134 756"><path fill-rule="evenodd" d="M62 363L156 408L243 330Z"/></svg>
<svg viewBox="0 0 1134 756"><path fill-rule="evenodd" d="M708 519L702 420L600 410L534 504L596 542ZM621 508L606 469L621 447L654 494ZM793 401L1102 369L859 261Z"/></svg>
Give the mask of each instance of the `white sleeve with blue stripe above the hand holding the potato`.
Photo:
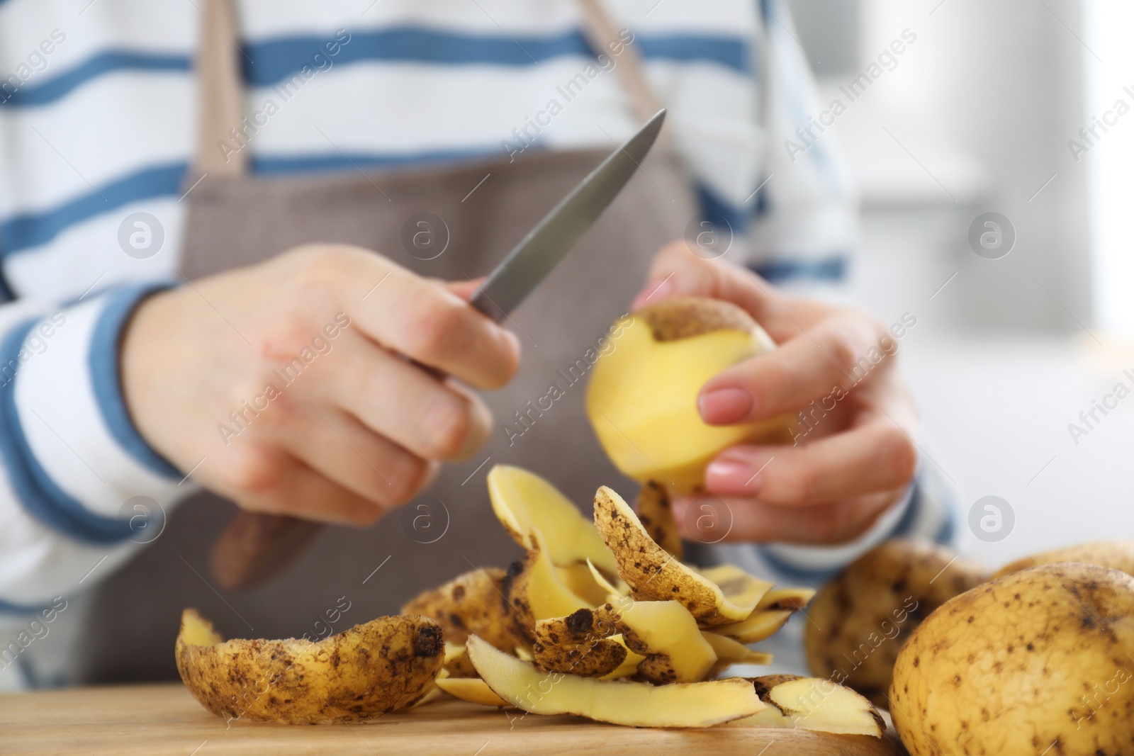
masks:
<svg viewBox="0 0 1134 756"><path fill-rule="evenodd" d="M760 129L765 172L750 266L782 287L841 282L857 244L857 196L782 0L760 3ZM826 120L830 119L830 114Z"/></svg>

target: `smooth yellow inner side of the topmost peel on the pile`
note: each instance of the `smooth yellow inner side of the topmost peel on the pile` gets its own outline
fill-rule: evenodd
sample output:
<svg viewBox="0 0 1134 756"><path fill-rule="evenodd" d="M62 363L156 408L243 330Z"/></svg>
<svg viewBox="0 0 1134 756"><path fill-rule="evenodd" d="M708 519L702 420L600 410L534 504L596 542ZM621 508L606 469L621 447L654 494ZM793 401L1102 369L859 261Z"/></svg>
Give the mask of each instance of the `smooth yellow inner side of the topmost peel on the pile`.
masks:
<svg viewBox="0 0 1134 756"><path fill-rule="evenodd" d="M587 521L558 489L519 467L497 465L488 475L492 511L508 534L525 549L534 544L532 528L543 534L548 555L556 567L591 560L615 575L617 566L594 525Z"/></svg>

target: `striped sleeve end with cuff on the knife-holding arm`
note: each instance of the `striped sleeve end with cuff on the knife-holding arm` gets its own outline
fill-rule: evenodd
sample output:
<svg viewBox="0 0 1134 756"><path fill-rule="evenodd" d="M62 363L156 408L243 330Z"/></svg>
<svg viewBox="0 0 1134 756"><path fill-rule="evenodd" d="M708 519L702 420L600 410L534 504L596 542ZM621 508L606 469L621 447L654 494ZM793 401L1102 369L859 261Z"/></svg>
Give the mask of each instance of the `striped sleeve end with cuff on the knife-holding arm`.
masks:
<svg viewBox="0 0 1134 756"><path fill-rule="evenodd" d="M0 613L90 587L193 491L138 434L119 381L122 329L160 288L0 307Z"/></svg>

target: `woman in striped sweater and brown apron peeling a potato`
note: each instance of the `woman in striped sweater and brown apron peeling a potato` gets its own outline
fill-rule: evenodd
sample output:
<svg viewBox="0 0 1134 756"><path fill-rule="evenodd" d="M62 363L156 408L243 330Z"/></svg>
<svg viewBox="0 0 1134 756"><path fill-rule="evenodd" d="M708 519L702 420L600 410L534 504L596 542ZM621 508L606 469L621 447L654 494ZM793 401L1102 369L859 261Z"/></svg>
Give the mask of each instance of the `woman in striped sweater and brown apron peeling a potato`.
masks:
<svg viewBox="0 0 1134 756"><path fill-rule="evenodd" d="M6 0L3 71L7 685L172 677L186 605L232 635L321 635L506 564L493 464L584 506L600 484L631 494L586 428L585 376L507 426L632 300L729 299L781 342L705 387L706 422L846 384L796 447L730 449L711 499L677 502L694 540L720 537L697 532L708 501L727 541L769 544L705 560L798 583L894 533L948 537L912 483L890 351L845 377L885 326L751 272L837 280L853 244L830 143L780 146L814 109L778 2ZM658 101L668 138L579 248L506 328L469 308ZM221 595L205 564L228 502L376 525Z"/></svg>

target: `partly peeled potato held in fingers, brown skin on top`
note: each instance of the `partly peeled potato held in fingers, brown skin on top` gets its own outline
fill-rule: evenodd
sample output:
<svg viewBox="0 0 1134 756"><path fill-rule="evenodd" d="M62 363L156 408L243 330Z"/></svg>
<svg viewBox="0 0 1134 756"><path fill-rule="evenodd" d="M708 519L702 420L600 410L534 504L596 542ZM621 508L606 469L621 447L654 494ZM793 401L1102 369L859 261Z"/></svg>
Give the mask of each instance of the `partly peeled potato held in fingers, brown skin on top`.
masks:
<svg viewBox="0 0 1134 756"><path fill-rule="evenodd" d="M720 299L675 297L616 328L616 348L591 372L586 415L624 474L691 493L704 486L705 466L728 447L753 439L790 443L787 416L719 426L697 413L697 393L709 379L776 347L745 311Z"/></svg>

